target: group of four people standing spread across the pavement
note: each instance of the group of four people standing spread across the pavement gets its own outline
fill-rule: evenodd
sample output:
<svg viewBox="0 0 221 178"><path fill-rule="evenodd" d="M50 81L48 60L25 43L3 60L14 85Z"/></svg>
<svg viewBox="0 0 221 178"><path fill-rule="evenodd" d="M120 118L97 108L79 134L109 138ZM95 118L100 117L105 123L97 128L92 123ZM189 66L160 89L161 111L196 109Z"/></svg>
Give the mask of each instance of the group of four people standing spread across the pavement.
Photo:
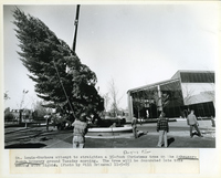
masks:
<svg viewBox="0 0 221 178"><path fill-rule="evenodd" d="M201 132L199 130L199 123L194 115L194 111L192 109L190 114L187 116L187 124L190 126L190 137L193 137L192 128L197 130L198 135L202 137ZM80 118L76 118L72 124L73 128L73 148L84 148L85 144L85 135L87 133L87 123L86 123L86 114L82 114ZM138 138L137 134L137 118L133 117L131 127L134 137ZM169 132L168 118L166 118L166 114L164 112L160 113L160 116L157 121L157 132L159 133L159 139L157 147L168 147L167 142L167 133Z"/></svg>

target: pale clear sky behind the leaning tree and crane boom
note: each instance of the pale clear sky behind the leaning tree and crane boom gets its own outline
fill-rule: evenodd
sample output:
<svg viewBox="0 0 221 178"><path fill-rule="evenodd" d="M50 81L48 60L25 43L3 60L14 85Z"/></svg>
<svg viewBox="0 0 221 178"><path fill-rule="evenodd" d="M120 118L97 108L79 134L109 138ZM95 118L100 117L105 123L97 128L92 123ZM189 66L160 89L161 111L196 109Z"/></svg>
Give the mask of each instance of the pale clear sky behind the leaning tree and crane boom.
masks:
<svg viewBox="0 0 221 178"><path fill-rule="evenodd" d="M19 108L23 90L23 106L33 108L39 98L17 53L14 6L3 6L4 108ZM72 48L75 4L17 7ZM114 81L118 105L126 108L128 90L169 80L178 70L215 71L219 32L218 3L82 4L76 54L96 73L99 94L109 93Z"/></svg>

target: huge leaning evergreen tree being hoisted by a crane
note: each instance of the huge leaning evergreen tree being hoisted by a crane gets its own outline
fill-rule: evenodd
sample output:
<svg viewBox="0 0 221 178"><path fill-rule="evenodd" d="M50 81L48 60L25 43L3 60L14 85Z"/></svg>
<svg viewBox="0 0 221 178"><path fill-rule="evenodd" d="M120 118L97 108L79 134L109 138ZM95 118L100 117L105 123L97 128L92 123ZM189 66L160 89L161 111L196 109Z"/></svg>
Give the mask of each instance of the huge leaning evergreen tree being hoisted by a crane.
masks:
<svg viewBox="0 0 221 178"><path fill-rule="evenodd" d="M103 111L103 98L95 88L96 75L81 63L75 52L40 19L18 8L13 17L21 49L18 53L31 73L29 77L35 82L38 96L51 106L73 111L76 116Z"/></svg>

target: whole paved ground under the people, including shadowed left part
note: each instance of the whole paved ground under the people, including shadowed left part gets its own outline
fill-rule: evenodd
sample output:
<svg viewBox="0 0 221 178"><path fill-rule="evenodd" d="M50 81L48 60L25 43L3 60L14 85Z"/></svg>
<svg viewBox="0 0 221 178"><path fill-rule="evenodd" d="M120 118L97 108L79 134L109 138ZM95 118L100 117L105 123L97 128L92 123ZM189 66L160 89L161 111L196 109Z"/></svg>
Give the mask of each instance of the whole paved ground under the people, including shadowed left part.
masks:
<svg viewBox="0 0 221 178"><path fill-rule="evenodd" d="M214 148L215 129L210 121L199 121L203 137L190 138L189 127L185 121L170 122L168 142L170 148ZM139 138L133 133L86 135L85 148L155 148L158 140L156 123L138 124ZM72 130L56 130L44 127L9 127L4 128L6 148L72 148Z"/></svg>

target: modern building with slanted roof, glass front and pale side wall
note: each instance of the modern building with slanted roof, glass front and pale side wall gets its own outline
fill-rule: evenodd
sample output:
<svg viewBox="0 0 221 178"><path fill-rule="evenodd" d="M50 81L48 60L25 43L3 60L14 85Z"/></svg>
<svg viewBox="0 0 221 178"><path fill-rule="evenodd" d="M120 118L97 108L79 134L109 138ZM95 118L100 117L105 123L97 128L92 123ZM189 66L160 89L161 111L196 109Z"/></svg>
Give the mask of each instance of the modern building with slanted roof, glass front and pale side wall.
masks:
<svg viewBox="0 0 221 178"><path fill-rule="evenodd" d="M194 109L198 117L215 114L214 72L178 71L170 80L127 92L129 118L156 118L164 111L168 117L186 117Z"/></svg>

